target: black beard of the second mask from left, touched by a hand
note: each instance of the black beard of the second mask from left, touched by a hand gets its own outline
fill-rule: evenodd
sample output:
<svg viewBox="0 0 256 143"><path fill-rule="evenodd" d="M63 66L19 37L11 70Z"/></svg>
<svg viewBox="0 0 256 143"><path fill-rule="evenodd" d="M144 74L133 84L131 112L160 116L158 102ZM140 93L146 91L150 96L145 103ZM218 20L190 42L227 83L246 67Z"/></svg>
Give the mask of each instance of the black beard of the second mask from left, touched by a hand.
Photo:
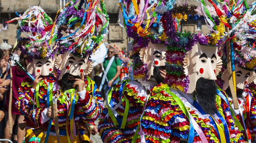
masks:
<svg viewBox="0 0 256 143"><path fill-rule="evenodd" d="M61 88L62 88L63 92L73 88L75 80L73 80L71 78L80 78L80 76L79 75L76 75L76 76L71 75L69 73L63 74L63 76L61 78Z"/></svg>

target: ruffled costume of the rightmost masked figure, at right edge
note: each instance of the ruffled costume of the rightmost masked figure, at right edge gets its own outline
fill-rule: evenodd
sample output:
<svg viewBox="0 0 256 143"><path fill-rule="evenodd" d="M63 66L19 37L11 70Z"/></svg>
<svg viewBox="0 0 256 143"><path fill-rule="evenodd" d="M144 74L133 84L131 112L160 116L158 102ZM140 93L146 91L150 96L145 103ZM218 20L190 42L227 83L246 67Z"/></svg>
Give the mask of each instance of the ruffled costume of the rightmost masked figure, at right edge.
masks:
<svg viewBox="0 0 256 143"><path fill-rule="evenodd" d="M246 138L247 138L247 135L250 135L251 138L253 138L256 133L255 98L252 96L251 91L247 88L244 89L244 92L242 95L243 95L243 98L237 98L241 111L240 111L240 109L237 109L237 110L233 109L233 111L234 111L236 118L239 120L239 122L245 129L245 131L241 131L241 133L243 133L246 136ZM228 97L228 99L229 99L229 103L231 104L231 106L233 108L232 97ZM250 100L250 102L249 102L249 100ZM241 114L241 112L242 112L242 114ZM242 117L242 115L243 115L243 117ZM248 118L249 118L249 120L248 120ZM243 121L243 119L244 119L244 121Z"/></svg>

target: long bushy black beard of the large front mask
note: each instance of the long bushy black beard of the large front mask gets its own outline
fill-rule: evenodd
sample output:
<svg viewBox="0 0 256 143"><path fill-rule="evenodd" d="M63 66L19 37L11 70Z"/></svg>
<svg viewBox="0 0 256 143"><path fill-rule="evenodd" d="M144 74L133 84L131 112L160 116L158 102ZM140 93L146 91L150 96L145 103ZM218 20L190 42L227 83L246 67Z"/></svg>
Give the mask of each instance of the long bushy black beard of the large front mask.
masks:
<svg viewBox="0 0 256 143"><path fill-rule="evenodd" d="M216 108L216 85L214 80L200 77L196 84L197 99L203 111L207 114L214 114Z"/></svg>

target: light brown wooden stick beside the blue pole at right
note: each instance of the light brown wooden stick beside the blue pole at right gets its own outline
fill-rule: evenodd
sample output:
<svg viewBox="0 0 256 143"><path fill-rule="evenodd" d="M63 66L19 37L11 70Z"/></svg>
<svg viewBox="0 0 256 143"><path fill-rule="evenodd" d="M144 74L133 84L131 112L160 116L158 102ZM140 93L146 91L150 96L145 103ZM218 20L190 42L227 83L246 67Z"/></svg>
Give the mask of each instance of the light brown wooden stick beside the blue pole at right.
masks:
<svg viewBox="0 0 256 143"><path fill-rule="evenodd" d="M228 33L228 31L229 31L228 27L225 28L225 31ZM226 36L226 39L228 39L228 38L229 38L229 35ZM228 83L229 83L230 91L231 91L232 98L233 98L234 109L236 110L236 109L239 109L239 105L238 105L238 101L237 101L237 97L236 97L236 91L233 86L231 59L230 59L230 41L229 40L226 41L226 49L227 49Z"/></svg>

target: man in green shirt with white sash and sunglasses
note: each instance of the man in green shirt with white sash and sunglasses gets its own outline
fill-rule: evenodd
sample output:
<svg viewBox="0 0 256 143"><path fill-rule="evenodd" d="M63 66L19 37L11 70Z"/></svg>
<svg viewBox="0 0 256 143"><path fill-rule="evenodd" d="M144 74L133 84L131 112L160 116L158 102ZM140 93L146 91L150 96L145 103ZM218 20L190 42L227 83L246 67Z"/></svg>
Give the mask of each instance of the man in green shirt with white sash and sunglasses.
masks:
<svg viewBox="0 0 256 143"><path fill-rule="evenodd" d="M105 58L103 63L99 64L100 65L99 73L103 71L102 70L102 66L103 66L105 70L105 74L108 79L108 82L107 82L107 80L105 79L106 76L102 74L102 81L101 81L100 88L102 87L101 93L103 95L103 98L101 98L101 100L106 100L110 87L113 84L117 84L117 82L119 81L121 62L117 57L114 56L115 54L116 54L115 48L109 47L107 51L108 57Z"/></svg>

